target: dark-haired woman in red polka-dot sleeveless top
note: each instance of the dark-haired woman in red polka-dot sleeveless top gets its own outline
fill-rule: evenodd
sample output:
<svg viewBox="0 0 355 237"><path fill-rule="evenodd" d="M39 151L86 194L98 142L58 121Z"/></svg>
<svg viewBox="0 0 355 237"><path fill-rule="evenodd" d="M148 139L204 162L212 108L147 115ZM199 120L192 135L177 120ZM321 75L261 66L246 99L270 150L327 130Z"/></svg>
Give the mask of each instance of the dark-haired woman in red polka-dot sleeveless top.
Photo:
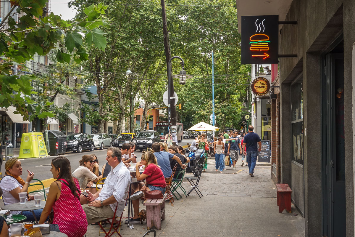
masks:
<svg viewBox="0 0 355 237"><path fill-rule="evenodd" d="M39 224L43 224L53 208L53 223L50 231L65 233L68 237L81 237L86 233L88 222L80 204L80 186L71 176L70 162L66 157L52 159L50 171L53 178L48 198Z"/></svg>

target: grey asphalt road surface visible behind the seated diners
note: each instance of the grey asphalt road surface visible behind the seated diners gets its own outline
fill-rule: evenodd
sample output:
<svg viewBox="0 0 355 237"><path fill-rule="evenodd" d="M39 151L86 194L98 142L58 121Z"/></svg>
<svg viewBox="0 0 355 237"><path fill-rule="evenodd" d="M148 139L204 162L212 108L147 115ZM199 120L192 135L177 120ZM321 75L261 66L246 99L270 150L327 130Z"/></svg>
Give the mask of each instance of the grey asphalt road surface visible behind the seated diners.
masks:
<svg viewBox="0 0 355 237"><path fill-rule="evenodd" d="M191 144L192 139L184 139L179 145L184 146L189 142ZM102 166L106 163L106 151L104 150L94 150L91 151L83 151L82 153L73 153L68 152L64 156L70 160L72 172L79 166L79 160L83 155L95 154L99 160L99 167L102 169ZM142 156L142 152L140 150L136 150L136 156L138 157L138 161L140 161L140 157ZM34 178L39 180L53 178L52 173L50 172L50 163L51 159L56 156L49 156L49 157L42 157L42 158L28 158L28 159L21 159L22 164L22 178L26 180L28 172L26 169L34 173ZM2 163L1 171L3 176L5 175L5 162Z"/></svg>

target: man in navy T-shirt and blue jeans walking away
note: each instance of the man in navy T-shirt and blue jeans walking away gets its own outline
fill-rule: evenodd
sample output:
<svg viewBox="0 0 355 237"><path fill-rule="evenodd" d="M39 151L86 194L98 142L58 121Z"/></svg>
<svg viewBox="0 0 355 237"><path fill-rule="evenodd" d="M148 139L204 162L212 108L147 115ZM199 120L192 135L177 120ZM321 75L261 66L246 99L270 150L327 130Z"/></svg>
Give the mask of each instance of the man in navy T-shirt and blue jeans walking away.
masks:
<svg viewBox="0 0 355 237"><path fill-rule="evenodd" d="M243 151L246 155L246 160L249 167L249 175L254 177L254 168L256 165L256 159L258 156L258 151L261 151L261 139L258 134L254 133L254 127L249 125L249 133L244 136L243 140ZM258 148L259 145L259 148ZM246 151L247 149L248 151Z"/></svg>

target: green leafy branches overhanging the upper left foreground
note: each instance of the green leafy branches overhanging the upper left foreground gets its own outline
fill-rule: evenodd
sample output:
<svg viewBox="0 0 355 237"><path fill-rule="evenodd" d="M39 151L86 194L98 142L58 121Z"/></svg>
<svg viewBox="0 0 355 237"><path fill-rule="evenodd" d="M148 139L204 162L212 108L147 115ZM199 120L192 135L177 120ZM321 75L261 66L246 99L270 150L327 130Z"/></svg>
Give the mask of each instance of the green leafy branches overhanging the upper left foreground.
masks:
<svg viewBox="0 0 355 237"><path fill-rule="evenodd" d="M46 55L56 47L58 62L76 63L88 59L83 42L89 47L104 50L106 38L97 29L106 25L104 17L107 8L102 3L84 8L85 14L75 21L64 21L51 12L43 13L47 0L16 0L11 1L11 9L0 23L0 107L13 104L24 119L33 120L53 117L49 106L50 101L35 103L31 98L33 87L31 82L37 80L35 74L13 74L13 69L26 70L26 61L38 55ZM13 16L19 14L18 22ZM5 27L6 26L6 27ZM60 43L64 36L64 43ZM67 50L67 51L66 51ZM73 56L72 56L73 55ZM15 93L13 93L15 92ZM28 114L31 113L31 115Z"/></svg>

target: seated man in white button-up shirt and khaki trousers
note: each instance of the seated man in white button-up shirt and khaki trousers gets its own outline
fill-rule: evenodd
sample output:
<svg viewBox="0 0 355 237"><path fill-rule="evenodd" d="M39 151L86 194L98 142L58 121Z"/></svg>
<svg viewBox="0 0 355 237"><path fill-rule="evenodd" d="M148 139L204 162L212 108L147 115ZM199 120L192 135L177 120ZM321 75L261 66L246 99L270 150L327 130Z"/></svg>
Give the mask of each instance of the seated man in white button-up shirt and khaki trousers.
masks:
<svg viewBox="0 0 355 237"><path fill-rule="evenodd" d="M82 205L88 225L114 215L117 203L116 216L120 216L125 208L126 198L131 184L131 174L121 161L122 153L116 147L107 149L106 160L111 166L105 185L95 194L88 193L89 204Z"/></svg>

